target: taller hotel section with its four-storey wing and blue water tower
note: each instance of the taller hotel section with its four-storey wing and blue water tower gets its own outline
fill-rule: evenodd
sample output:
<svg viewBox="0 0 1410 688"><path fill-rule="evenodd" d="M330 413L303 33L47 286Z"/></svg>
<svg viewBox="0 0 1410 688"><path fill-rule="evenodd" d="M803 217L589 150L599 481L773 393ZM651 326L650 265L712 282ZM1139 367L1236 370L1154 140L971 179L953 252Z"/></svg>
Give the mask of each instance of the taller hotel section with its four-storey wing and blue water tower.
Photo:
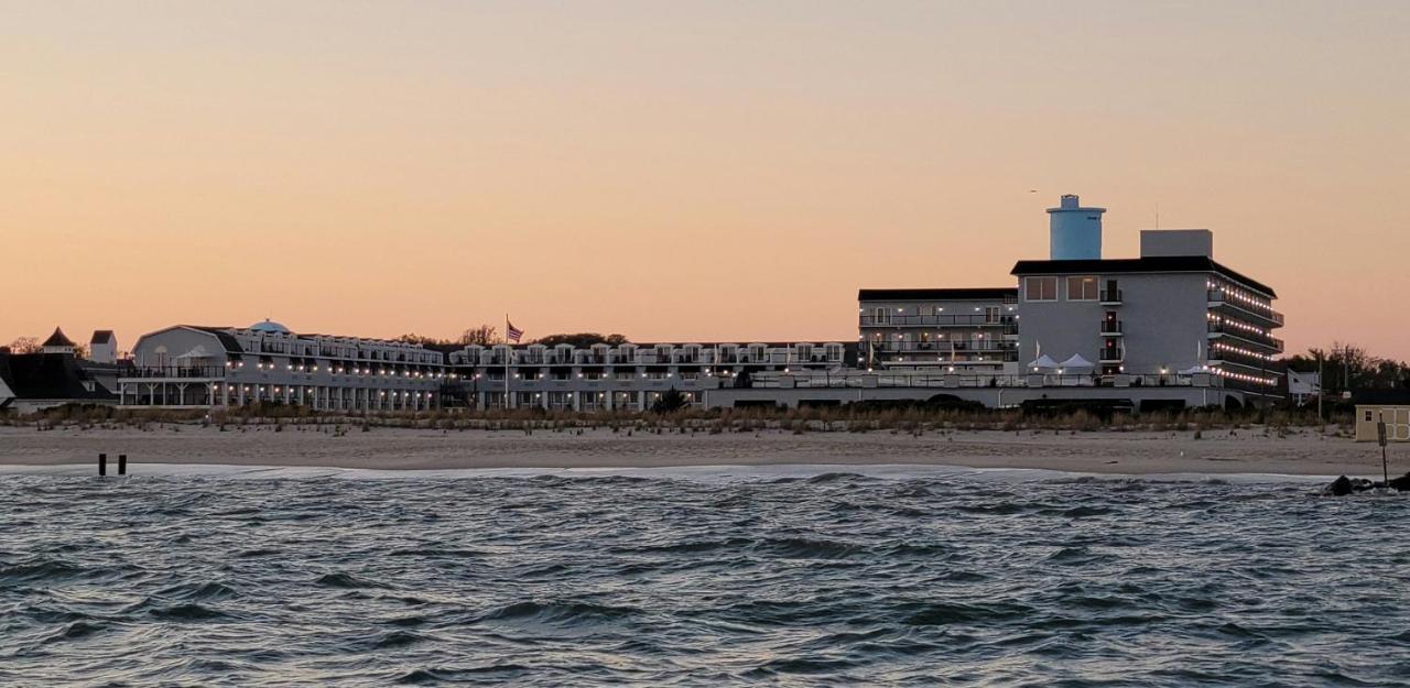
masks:
<svg viewBox="0 0 1410 688"><path fill-rule="evenodd" d="M991 405L1003 388L1190 405L1276 395L1273 289L1215 262L1208 230L1146 230L1139 258L1107 259L1104 211L1063 196L1048 210L1049 259L1018 261L1015 288L862 289L860 357L878 386L988 388L953 396Z"/></svg>

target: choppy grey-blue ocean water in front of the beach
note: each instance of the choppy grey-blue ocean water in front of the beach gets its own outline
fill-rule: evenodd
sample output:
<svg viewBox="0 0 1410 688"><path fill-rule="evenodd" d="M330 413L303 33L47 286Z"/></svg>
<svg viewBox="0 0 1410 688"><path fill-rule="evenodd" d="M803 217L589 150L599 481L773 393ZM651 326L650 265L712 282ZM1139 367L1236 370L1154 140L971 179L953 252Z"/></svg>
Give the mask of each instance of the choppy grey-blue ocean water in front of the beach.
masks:
<svg viewBox="0 0 1410 688"><path fill-rule="evenodd" d="M1316 488L0 475L0 685L1407 685L1410 499Z"/></svg>

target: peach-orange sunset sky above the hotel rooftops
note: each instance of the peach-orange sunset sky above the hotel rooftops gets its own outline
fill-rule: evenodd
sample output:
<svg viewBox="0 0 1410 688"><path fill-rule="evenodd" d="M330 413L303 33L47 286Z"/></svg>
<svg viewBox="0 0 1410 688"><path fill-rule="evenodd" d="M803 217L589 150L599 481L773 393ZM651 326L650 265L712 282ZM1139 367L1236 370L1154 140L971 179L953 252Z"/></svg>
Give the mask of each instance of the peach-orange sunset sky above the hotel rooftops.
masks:
<svg viewBox="0 0 1410 688"><path fill-rule="evenodd" d="M1410 358L1410 3L0 3L0 341L849 340L1043 209ZM1029 190L1038 193L1031 193Z"/></svg>

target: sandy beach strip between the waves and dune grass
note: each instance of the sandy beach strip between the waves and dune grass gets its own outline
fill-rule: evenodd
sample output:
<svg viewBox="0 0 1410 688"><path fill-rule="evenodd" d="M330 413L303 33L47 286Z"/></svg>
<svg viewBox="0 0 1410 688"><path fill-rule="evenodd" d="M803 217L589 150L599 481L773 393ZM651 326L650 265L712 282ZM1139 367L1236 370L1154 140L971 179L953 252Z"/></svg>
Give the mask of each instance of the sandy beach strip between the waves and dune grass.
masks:
<svg viewBox="0 0 1410 688"><path fill-rule="evenodd" d="M171 426L154 430L0 429L0 464L61 465L128 454L135 464L224 464L372 469L651 468L689 465L915 464L1043 468L1097 474L1378 475L1372 444L1293 430L1193 431L747 431L651 434L611 430L441 431ZM1406 460L1392 450L1392 469Z"/></svg>

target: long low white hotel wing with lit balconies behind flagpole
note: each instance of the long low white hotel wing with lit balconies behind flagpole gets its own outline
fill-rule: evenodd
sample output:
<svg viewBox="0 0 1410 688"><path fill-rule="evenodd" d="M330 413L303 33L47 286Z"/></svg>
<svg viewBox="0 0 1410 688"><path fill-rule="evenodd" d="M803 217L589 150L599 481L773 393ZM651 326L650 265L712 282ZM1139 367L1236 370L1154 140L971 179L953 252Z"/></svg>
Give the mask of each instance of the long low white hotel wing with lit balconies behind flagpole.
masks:
<svg viewBox="0 0 1410 688"><path fill-rule="evenodd" d="M124 406L220 407L252 403L327 412L477 409L647 410L675 389L695 406L709 391L754 379L836 375L856 365L856 344L711 343L470 345L295 334L250 327L173 326L141 337L118 378ZM787 403L787 402L784 402Z"/></svg>

